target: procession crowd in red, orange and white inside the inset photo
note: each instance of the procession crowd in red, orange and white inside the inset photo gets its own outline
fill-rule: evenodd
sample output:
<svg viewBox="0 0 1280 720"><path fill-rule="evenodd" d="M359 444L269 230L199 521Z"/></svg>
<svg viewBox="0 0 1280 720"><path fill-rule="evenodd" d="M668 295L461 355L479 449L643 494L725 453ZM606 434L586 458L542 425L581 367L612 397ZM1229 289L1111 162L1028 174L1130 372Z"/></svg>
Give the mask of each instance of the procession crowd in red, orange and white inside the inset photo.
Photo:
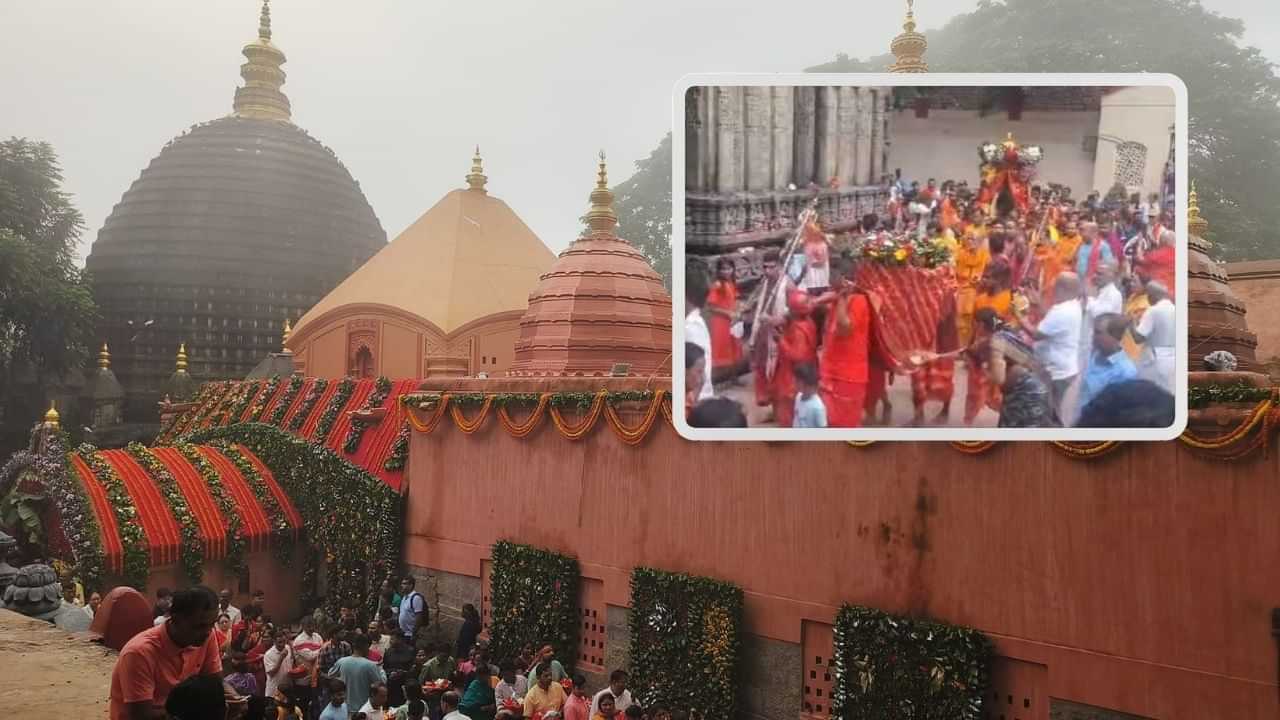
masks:
<svg viewBox="0 0 1280 720"><path fill-rule="evenodd" d="M750 373L763 420L777 427L888 424L888 387L908 375L911 425L955 424L984 409L998 427L1167 427L1174 420L1172 208L1160 196L1080 201L1061 186L979 205L964 183L891 178L883 214L841 237L803 223L744 299L730 258L714 277L686 269L686 419L748 427L724 397ZM859 263L924 252L951 275L934 347L890 370ZM877 255L879 252L881 255ZM1134 405L1137 404L1137 405ZM937 407L929 413L929 406Z"/></svg>

